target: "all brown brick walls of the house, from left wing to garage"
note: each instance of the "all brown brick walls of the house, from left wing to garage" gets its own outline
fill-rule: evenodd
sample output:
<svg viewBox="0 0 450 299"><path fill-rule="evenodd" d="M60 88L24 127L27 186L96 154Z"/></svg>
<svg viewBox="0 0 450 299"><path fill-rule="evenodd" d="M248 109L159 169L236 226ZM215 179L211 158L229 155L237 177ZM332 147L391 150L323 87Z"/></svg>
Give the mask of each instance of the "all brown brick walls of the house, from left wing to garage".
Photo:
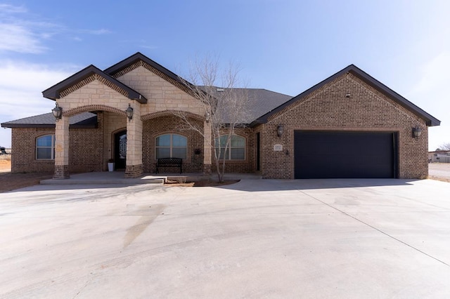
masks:
<svg viewBox="0 0 450 299"><path fill-rule="evenodd" d="M350 94L349 98L345 97L347 93ZM92 107L105 109L103 105ZM113 131L127 126L124 112L119 113L117 109L108 108L105 110L109 112L99 113L98 128L70 128L68 171L72 173L107 169L106 161L113 157ZM82 110L84 111L84 108ZM70 114L77 112L79 112L77 108L66 111ZM184 161L184 172L202 173L210 169L214 172L214 159L212 159L212 166L203 165L202 136L195 131L182 128L181 121L174 115L167 112L158 113L160 114L144 115L142 165L127 169L127 175L136 175L141 169L146 173L155 172L155 138L164 133L177 133L188 138L188 157ZM151 118L147 119L148 117ZM192 117L192 121L199 128L203 127L203 121L199 117ZM276 134L278 124L284 126L284 134L281 138L278 138ZM411 137L411 130L415 126L420 126L422 129L422 135L418 140ZM237 129L236 134L246 138L245 161L226 161L226 173L256 171L256 134L259 132L261 141L259 173L264 178L294 178L295 130L397 133L399 178L425 178L428 175L428 127L423 119L352 74L344 74L321 86L313 93L297 100L293 105L274 114L266 124L256 128ZM12 128L12 131L13 172L54 171L53 160L35 159L36 138L54 134L54 129ZM283 145L283 152L274 152L274 145L278 143ZM200 154L195 154L195 149L200 149Z"/></svg>

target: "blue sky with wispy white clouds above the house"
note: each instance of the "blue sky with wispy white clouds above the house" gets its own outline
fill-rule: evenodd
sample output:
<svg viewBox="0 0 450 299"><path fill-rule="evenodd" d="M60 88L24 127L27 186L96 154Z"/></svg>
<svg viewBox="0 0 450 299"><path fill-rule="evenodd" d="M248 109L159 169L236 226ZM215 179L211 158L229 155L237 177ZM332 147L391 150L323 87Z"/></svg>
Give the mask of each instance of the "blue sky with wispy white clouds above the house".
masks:
<svg viewBox="0 0 450 299"><path fill-rule="evenodd" d="M437 0L0 0L0 122L50 112L41 91L138 51L181 76L218 55L248 87L288 95L353 63L442 121L435 150L450 142L449 14Z"/></svg>

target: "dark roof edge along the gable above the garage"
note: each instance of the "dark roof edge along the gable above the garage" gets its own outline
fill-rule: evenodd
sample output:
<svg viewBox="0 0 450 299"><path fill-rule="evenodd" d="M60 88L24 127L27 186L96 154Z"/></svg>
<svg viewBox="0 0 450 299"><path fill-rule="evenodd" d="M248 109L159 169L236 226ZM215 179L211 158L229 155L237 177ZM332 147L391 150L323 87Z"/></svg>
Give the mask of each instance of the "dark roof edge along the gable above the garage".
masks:
<svg viewBox="0 0 450 299"><path fill-rule="evenodd" d="M414 114L418 115L419 117L425 119L427 126L439 126L439 124L441 124L441 121L439 121L439 119L432 117L432 115L428 114L423 109L420 109L419 107L414 105L412 102L409 102L409 100L406 100L406 98L402 97L395 91L392 91L392 89L385 86L377 79L371 77L369 74L367 74L363 70L359 69L359 67L356 67L356 65L349 65L348 67L345 67L345 69L340 70L340 72L333 74L333 76L328 77L327 79L321 81L319 84L316 84L316 85L312 86L311 88L307 89L307 91L304 91L303 93L300 93L300 95L295 96L288 102L283 103L283 105L280 105L280 106L276 107L276 109L273 109L273 110L267 112L262 117L259 117L258 119L253 121L252 124L250 124L250 125L257 126L257 124L265 124L268 121L269 117L271 117L271 115L274 115L276 112L279 112L282 109L284 109L285 107L288 107L289 105L293 104L293 102L300 100L301 98L308 95L309 93L316 91L316 89L321 88L325 84L328 84L330 81L333 81L334 79L336 79L346 73L353 74L354 76L358 77L359 79L365 81L367 84L371 85L376 90L387 95L387 97L398 102L399 105L405 107L406 109L409 109L409 111L411 111Z"/></svg>

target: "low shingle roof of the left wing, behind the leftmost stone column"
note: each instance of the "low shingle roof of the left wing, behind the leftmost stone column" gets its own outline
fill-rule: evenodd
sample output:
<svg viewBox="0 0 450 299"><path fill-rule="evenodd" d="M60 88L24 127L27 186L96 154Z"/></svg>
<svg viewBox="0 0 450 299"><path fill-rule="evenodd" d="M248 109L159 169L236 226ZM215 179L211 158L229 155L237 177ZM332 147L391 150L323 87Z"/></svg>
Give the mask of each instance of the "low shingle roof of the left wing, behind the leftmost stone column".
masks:
<svg viewBox="0 0 450 299"><path fill-rule="evenodd" d="M7 121L2 123L4 128L55 128L55 117L53 113L36 115L34 117L25 117L24 119L16 119L15 121ZM96 128L97 114L91 112L83 112L69 118L70 128Z"/></svg>

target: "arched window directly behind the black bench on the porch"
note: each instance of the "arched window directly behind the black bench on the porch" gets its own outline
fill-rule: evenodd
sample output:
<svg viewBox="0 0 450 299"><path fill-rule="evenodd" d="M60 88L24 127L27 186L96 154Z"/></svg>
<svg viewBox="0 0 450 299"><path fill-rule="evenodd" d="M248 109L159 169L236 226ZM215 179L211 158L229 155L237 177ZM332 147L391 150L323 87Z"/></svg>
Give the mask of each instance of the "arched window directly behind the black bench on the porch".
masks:
<svg viewBox="0 0 450 299"><path fill-rule="evenodd" d="M186 159L188 138L178 134L165 134L156 138L156 159L181 158Z"/></svg>

